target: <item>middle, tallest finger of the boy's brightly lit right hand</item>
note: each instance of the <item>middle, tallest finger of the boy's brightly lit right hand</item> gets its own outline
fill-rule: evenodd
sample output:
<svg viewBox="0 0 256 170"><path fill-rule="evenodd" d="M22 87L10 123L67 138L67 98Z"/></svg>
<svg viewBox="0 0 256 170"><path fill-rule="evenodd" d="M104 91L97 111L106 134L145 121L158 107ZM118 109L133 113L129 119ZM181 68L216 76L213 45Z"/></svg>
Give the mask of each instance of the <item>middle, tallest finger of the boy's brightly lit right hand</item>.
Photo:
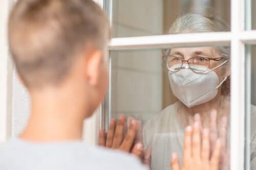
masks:
<svg viewBox="0 0 256 170"><path fill-rule="evenodd" d="M192 156L195 160L200 160L201 157L201 134L199 123L195 122L192 132Z"/></svg>

